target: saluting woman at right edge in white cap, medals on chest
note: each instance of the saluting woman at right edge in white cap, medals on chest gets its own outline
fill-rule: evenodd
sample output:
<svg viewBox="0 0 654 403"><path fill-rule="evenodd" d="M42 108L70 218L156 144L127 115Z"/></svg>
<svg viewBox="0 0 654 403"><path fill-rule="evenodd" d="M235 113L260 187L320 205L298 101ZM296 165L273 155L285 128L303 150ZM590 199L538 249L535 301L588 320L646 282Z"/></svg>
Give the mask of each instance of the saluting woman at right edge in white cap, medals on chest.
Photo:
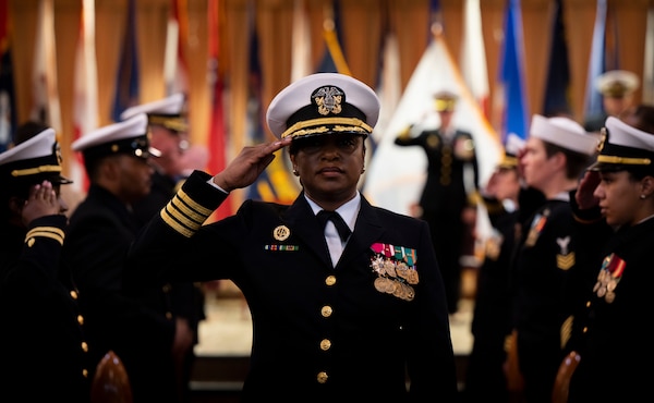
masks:
<svg viewBox="0 0 654 403"><path fill-rule="evenodd" d="M651 391L650 377L631 366L634 356L651 357L654 346L642 334L635 312L654 307L654 106L639 105L619 118L609 117L596 162L576 192L574 212L584 236L586 284L572 323L569 351L581 359L570 381L568 402L638 401ZM611 382L629 388L597 388L596 380L614 371Z"/></svg>

